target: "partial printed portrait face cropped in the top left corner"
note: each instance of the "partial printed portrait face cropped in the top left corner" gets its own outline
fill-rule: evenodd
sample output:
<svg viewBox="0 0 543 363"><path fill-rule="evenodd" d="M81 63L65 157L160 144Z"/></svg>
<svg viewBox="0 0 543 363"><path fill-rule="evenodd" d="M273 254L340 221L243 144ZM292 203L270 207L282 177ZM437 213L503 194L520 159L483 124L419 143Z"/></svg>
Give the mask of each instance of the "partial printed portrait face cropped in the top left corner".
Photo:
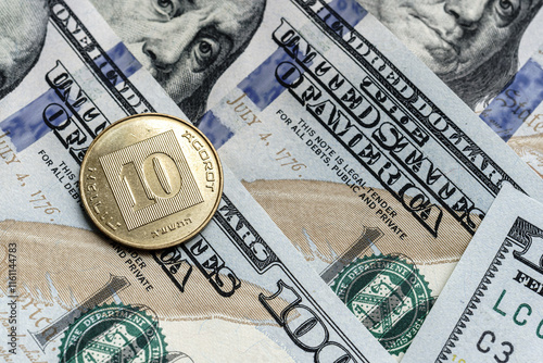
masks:
<svg viewBox="0 0 543 363"><path fill-rule="evenodd" d="M0 98L37 62L46 39L47 0L0 1Z"/></svg>

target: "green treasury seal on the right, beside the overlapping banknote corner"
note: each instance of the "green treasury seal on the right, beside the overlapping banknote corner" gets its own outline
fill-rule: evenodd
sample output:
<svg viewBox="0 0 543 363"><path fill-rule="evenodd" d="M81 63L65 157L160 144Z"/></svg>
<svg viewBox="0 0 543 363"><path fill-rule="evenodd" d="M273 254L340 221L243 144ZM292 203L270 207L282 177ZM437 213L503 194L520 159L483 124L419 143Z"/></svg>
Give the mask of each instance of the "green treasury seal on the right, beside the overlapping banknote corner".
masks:
<svg viewBox="0 0 543 363"><path fill-rule="evenodd" d="M405 352L432 305L428 283L395 255L356 259L332 290L392 354Z"/></svg>

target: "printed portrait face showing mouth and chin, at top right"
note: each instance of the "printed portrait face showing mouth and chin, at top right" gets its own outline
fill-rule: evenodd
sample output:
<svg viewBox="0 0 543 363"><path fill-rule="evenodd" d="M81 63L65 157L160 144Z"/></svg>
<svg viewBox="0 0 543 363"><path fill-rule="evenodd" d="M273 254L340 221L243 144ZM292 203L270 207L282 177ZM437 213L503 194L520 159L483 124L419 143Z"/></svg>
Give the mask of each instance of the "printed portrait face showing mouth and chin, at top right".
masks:
<svg viewBox="0 0 543 363"><path fill-rule="evenodd" d="M541 0L361 0L442 79L465 76L528 26Z"/></svg>

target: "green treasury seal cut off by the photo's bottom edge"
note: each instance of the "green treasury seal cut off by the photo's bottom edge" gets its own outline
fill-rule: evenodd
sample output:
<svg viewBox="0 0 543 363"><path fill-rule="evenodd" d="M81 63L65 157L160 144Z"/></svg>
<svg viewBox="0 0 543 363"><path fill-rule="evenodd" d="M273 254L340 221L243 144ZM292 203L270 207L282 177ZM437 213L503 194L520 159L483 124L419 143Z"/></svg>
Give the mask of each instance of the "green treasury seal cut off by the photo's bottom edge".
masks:
<svg viewBox="0 0 543 363"><path fill-rule="evenodd" d="M165 363L157 321L142 306L102 305L77 318L61 341L60 362Z"/></svg>

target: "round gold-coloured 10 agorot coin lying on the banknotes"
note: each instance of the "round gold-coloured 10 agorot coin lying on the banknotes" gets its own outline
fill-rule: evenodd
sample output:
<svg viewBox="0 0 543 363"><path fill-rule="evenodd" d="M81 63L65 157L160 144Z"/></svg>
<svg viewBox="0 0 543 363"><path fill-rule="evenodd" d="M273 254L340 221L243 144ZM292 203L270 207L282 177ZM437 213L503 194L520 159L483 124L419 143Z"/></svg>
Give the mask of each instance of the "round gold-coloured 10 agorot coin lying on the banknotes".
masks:
<svg viewBox="0 0 543 363"><path fill-rule="evenodd" d="M80 192L92 222L114 240L141 249L184 242L211 221L223 168L194 126L163 114L123 118L90 145Z"/></svg>

